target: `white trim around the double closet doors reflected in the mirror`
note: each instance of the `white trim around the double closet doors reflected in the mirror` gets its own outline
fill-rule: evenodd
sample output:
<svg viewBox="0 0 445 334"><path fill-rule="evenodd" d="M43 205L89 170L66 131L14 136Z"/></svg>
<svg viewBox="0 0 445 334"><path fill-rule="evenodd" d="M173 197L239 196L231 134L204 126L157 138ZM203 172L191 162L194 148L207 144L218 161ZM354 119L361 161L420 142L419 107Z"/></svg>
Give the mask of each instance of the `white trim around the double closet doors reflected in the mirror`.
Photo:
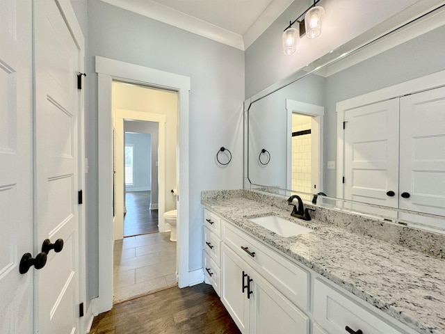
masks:
<svg viewBox="0 0 445 334"><path fill-rule="evenodd" d="M401 84L375 90L371 93L352 97L348 100L337 102L337 198L343 198L343 176L344 170L344 131L343 121L345 120L346 111L359 108L369 104L382 102L385 100L402 97L404 95L420 93L423 90L439 88L445 85L445 70L424 77L405 81Z"/></svg>

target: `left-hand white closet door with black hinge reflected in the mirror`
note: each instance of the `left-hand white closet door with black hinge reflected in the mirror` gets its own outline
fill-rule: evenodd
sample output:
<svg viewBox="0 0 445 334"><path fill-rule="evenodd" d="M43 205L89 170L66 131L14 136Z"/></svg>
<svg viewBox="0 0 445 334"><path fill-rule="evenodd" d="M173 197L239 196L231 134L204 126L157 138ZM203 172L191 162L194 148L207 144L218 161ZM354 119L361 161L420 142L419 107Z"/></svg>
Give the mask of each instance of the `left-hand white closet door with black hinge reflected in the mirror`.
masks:
<svg viewBox="0 0 445 334"><path fill-rule="evenodd" d="M346 199L398 207L398 109L394 99L346 111ZM354 204L351 209L394 215L366 205Z"/></svg>

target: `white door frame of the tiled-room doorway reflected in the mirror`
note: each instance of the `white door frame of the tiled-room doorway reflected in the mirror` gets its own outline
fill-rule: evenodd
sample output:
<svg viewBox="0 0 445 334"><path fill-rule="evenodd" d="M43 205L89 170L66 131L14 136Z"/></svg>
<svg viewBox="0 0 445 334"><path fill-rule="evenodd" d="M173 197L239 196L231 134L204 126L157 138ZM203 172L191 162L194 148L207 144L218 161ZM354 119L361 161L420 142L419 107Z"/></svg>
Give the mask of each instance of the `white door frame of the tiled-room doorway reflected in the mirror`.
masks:
<svg viewBox="0 0 445 334"><path fill-rule="evenodd" d="M292 189L292 114L298 113L312 117L312 184L318 186L317 191L323 191L323 118L325 107L305 102L286 99L287 110L287 164L286 184L287 189ZM290 134L290 135L289 135ZM316 172L314 169L316 167Z"/></svg>

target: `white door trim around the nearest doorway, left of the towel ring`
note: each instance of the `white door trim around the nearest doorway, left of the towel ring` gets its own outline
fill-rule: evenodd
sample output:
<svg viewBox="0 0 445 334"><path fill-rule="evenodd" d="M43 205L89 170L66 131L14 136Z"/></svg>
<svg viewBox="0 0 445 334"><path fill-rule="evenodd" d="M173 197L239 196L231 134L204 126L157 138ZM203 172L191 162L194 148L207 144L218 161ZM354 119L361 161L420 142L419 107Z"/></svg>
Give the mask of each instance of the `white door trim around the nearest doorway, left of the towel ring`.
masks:
<svg viewBox="0 0 445 334"><path fill-rule="evenodd" d="M98 74L98 225L99 225L99 297L95 312L113 307L113 80L174 90L179 95L179 136L177 153L177 267L178 285L191 285L188 271L188 95L190 77L95 56ZM180 138L180 140L179 140ZM193 279L193 278L192 278Z"/></svg>

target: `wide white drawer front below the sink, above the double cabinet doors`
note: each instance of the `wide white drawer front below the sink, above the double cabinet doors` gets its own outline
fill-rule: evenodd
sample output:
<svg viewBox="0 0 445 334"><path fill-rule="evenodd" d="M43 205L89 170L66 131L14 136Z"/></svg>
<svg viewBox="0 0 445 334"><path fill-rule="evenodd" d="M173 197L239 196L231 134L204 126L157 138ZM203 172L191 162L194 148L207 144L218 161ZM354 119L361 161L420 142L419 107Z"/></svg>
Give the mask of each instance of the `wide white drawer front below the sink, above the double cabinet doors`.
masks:
<svg viewBox="0 0 445 334"><path fill-rule="evenodd" d="M223 239L227 246L301 310L309 309L307 271L226 221L223 221Z"/></svg>

